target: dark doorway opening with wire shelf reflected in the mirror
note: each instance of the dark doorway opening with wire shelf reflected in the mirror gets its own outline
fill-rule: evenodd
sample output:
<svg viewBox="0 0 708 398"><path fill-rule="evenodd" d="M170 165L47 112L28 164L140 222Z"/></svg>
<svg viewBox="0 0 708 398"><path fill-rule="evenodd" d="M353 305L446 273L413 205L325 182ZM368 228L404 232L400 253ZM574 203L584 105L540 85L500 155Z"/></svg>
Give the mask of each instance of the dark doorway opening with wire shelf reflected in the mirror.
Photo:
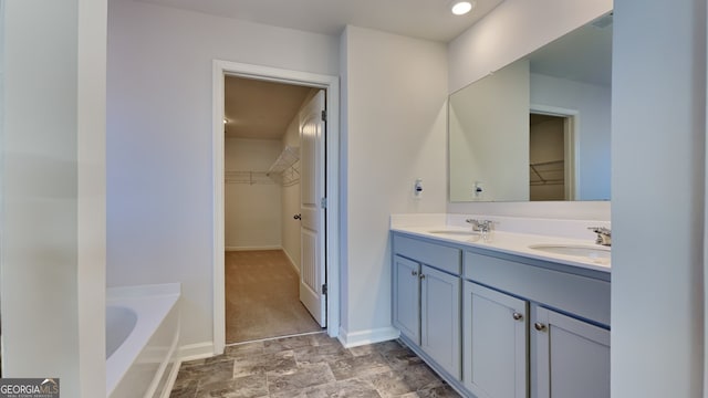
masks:
<svg viewBox="0 0 708 398"><path fill-rule="evenodd" d="M529 179L530 200L568 200L565 116L530 114Z"/></svg>

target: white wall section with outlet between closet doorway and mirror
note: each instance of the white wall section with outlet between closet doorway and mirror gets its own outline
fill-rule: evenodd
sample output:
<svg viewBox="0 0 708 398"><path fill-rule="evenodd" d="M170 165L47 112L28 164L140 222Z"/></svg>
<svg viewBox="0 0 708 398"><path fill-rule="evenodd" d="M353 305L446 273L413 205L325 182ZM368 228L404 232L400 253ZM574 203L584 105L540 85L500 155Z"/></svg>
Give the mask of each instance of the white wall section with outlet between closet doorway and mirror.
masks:
<svg viewBox="0 0 708 398"><path fill-rule="evenodd" d="M441 43L356 27L341 48L342 339L361 344L395 337L389 216L445 211L447 54Z"/></svg>

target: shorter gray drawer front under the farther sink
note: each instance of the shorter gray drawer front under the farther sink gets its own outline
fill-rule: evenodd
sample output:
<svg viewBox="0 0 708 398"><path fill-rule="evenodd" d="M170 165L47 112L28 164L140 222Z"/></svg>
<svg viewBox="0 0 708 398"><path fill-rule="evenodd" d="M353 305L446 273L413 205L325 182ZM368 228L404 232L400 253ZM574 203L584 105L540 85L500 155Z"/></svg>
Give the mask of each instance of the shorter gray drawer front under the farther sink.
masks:
<svg viewBox="0 0 708 398"><path fill-rule="evenodd" d="M460 274L461 250L459 249L395 234L394 253L445 272Z"/></svg>

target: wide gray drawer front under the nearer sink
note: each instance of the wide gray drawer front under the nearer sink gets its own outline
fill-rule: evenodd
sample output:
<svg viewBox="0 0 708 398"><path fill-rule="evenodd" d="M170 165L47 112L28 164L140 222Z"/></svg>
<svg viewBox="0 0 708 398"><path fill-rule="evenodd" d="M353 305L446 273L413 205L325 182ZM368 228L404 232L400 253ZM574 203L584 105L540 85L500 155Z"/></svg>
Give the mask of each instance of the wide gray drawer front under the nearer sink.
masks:
<svg viewBox="0 0 708 398"><path fill-rule="evenodd" d="M467 280L610 325L610 282L465 252Z"/></svg>

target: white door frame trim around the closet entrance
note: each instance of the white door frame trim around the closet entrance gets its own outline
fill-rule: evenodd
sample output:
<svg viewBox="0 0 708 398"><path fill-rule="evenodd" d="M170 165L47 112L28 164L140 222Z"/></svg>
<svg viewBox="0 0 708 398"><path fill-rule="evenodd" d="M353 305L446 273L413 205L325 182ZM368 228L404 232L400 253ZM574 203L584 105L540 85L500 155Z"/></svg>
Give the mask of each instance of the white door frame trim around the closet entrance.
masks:
<svg viewBox="0 0 708 398"><path fill-rule="evenodd" d="M339 76L284 70L278 67L214 60L212 63L212 176L214 176L214 354L220 355L226 347L226 287L225 287L225 184L223 184L223 101L225 76L257 78L269 82L298 84L323 88L325 106L325 266L327 283L327 334L337 337L340 326L340 78Z"/></svg>

